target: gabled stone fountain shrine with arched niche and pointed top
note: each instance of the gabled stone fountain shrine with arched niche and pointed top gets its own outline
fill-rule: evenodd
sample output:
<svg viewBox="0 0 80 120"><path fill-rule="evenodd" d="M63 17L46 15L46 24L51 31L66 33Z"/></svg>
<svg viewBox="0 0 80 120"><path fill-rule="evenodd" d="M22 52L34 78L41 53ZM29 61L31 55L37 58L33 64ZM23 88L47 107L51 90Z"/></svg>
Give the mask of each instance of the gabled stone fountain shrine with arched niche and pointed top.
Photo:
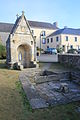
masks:
<svg viewBox="0 0 80 120"><path fill-rule="evenodd" d="M36 43L24 13L17 18L6 43L7 64L15 63L24 68L36 63Z"/></svg>

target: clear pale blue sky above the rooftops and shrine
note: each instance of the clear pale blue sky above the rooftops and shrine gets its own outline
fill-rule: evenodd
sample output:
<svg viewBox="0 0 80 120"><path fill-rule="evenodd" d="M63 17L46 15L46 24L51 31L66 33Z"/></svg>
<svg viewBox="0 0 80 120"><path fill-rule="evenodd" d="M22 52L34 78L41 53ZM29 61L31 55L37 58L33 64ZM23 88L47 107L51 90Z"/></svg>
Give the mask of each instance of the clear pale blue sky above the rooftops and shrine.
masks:
<svg viewBox="0 0 80 120"><path fill-rule="evenodd" d="M0 22L14 23L23 10L28 20L80 28L80 0L0 0Z"/></svg>

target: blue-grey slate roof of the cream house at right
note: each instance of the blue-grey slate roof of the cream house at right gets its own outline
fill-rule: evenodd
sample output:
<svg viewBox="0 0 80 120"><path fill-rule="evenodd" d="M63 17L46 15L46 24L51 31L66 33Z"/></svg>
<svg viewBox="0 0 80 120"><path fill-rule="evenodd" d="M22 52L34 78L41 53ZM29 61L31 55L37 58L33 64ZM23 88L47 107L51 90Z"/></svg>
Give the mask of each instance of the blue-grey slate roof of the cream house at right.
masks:
<svg viewBox="0 0 80 120"><path fill-rule="evenodd" d="M63 29L59 29L59 30L53 32L48 37L59 35L59 34L80 35L80 29L63 28Z"/></svg>

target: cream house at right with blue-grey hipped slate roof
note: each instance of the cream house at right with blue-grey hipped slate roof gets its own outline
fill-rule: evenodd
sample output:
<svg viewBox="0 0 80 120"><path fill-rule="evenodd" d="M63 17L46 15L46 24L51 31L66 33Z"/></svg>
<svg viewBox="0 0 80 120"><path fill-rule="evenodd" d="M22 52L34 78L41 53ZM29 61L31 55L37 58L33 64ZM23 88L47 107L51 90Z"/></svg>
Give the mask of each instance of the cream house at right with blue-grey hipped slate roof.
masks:
<svg viewBox="0 0 80 120"><path fill-rule="evenodd" d="M62 47L64 52L69 49L80 49L80 29L63 28L51 33L46 38L46 48Z"/></svg>

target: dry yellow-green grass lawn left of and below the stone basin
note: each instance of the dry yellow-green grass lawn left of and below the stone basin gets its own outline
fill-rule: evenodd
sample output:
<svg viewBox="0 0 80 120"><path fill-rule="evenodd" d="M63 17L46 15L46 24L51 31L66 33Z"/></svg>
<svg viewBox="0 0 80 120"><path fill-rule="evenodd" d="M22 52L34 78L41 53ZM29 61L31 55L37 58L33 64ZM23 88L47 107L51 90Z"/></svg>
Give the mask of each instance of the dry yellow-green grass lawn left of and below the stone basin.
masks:
<svg viewBox="0 0 80 120"><path fill-rule="evenodd" d="M0 61L0 120L80 120L79 102L32 110L19 83L20 71Z"/></svg>

